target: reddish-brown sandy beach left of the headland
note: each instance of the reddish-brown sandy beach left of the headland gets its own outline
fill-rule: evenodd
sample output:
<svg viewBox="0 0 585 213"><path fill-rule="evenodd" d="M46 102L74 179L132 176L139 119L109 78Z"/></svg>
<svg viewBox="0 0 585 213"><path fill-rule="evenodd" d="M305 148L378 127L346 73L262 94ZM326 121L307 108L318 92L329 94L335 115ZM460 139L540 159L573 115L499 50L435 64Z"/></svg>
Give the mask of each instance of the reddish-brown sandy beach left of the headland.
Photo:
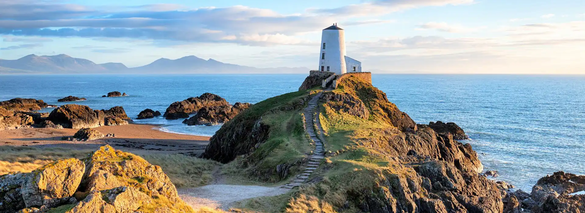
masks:
<svg viewBox="0 0 585 213"><path fill-rule="evenodd" d="M116 149L133 153L183 153L199 156L205 151L209 137L184 135L157 130L158 125L128 124L94 128L102 134L115 134L95 141L66 141L77 129L21 128L0 131L0 145L62 147L71 149L95 149L109 144Z"/></svg>

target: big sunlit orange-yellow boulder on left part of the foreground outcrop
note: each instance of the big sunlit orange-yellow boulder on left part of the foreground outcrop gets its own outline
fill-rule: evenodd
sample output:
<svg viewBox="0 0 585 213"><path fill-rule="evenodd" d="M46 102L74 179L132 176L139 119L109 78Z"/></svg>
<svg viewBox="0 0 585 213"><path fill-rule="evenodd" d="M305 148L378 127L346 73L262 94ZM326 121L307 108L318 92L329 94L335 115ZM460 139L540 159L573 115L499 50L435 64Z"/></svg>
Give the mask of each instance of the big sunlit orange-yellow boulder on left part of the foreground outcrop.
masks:
<svg viewBox="0 0 585 213"><path fill-rule="evenodd" d="M57 160L38 169L22 183L26 207L55 207L67 202L81 183L85 165L71 158Z"/></svg>

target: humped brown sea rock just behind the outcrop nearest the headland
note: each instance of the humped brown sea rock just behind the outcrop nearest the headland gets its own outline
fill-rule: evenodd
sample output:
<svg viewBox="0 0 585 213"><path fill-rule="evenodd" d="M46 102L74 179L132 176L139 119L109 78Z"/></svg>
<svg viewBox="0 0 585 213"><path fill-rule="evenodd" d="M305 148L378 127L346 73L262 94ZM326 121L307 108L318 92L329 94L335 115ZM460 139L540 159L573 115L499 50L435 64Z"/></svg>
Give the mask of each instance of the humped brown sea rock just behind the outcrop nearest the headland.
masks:
<svg viewBox="0 0 585 213"><path fill-rule="evenodd" d="M197 113L203 107L229 106L225 99L212 93L204 93L199 97L190 97L181 102L174 102L167 107L164 117L167 120L188 118L190 114Z"/></svg>

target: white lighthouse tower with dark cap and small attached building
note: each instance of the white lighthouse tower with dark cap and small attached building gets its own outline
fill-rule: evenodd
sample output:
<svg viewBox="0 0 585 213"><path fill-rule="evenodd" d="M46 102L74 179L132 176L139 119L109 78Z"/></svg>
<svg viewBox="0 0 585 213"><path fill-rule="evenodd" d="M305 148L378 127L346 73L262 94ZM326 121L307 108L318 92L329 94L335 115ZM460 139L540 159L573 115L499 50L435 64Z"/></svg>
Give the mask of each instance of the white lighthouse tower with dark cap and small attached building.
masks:
<svg viewBox="0 0 585 213"><path fill-rule="evenodd" d="M345 32L337 24L323 29L319 53L319 71L335 72L338 75L362 72L362 62L347 57Z"/></svg>

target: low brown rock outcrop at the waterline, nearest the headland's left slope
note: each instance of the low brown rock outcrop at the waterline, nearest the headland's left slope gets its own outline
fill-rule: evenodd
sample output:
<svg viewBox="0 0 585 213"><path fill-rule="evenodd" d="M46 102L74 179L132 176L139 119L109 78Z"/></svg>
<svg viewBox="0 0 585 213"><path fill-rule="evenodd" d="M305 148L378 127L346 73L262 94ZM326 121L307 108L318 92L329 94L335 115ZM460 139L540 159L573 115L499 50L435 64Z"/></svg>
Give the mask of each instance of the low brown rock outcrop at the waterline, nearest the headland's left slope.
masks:
<svg viewBox="0 0 585 213"><path fill-rule="evenodd" d="M218 125L226 123L240 112L252 106L250 103L236 103L233 106L203 107L195 116L185 119L187 125Z"/></svg>

